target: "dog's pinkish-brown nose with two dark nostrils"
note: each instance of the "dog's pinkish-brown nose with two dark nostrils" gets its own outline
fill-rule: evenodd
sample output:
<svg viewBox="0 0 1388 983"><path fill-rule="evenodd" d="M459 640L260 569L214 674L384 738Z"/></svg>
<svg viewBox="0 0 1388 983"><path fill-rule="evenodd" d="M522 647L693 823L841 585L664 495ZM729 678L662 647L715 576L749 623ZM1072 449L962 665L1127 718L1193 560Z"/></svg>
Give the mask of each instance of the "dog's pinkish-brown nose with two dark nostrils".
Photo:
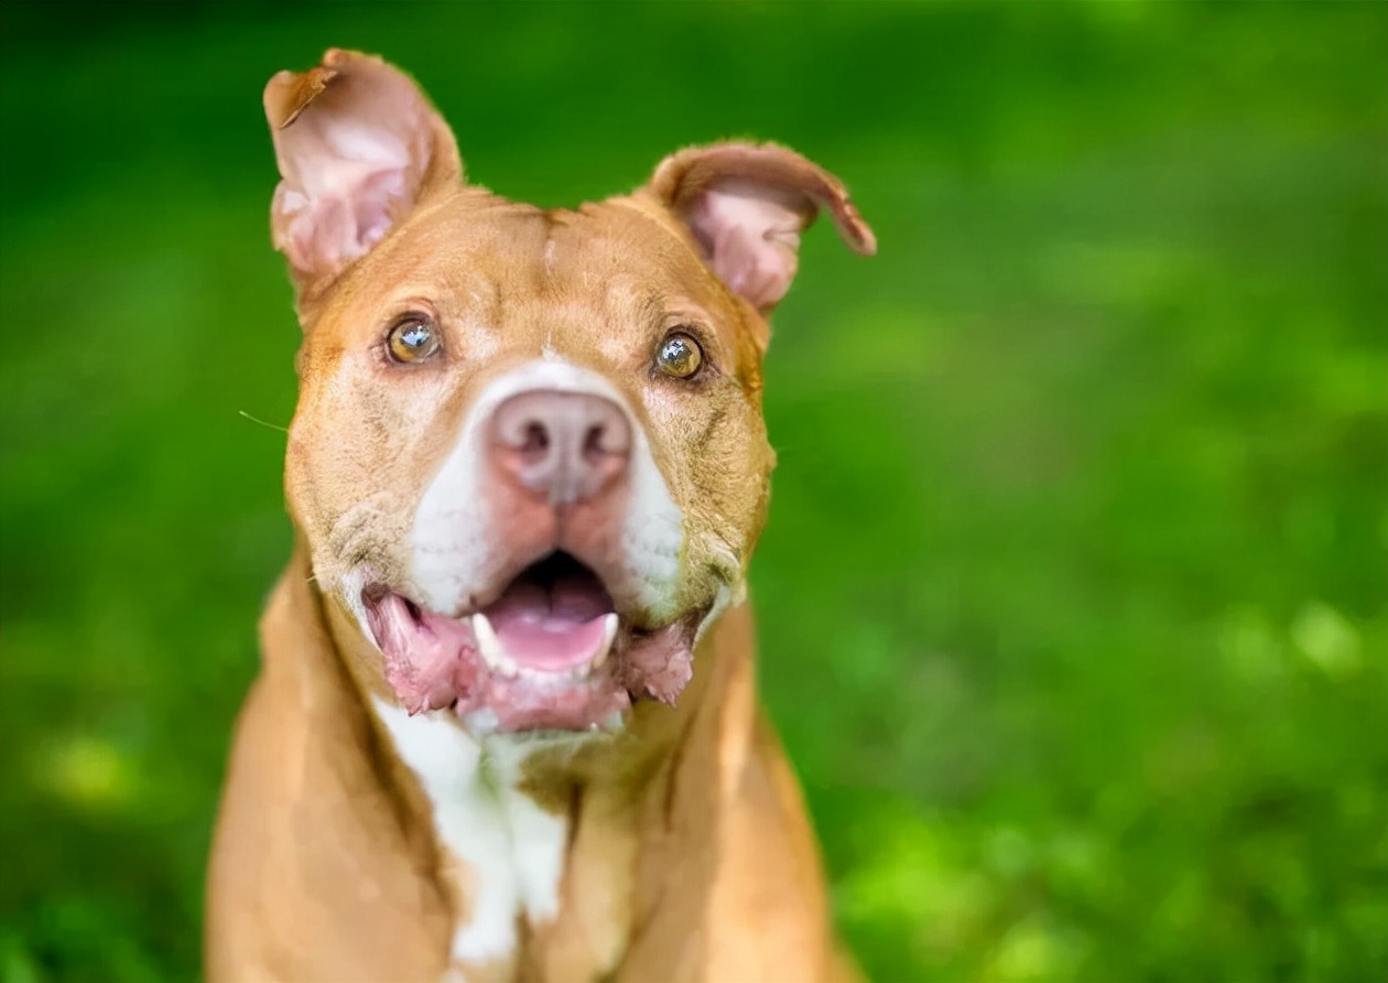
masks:
<svg viewBox="0 0 1388 983"><path fill-rule="evenodd" d="M490 450L504 475L565 504L591 498L626 473L632 428L601 396L540 389L497 407Z"/></svg>

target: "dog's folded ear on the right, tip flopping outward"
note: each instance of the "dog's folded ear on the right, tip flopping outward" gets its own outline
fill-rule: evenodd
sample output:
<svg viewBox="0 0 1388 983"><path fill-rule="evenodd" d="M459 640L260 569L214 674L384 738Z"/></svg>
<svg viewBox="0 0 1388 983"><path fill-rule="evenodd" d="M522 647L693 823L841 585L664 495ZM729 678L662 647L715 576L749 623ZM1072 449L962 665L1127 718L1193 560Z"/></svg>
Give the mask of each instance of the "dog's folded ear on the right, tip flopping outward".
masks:
<svg viewBox="0 0 1388 983"><path fill-rule="evenodd" d="M762 314L790 289L799 233L820 208L849 249L877 251L838 178L770 143L682 150L661 161L645 192L684 222L723 283Z"/></svg>

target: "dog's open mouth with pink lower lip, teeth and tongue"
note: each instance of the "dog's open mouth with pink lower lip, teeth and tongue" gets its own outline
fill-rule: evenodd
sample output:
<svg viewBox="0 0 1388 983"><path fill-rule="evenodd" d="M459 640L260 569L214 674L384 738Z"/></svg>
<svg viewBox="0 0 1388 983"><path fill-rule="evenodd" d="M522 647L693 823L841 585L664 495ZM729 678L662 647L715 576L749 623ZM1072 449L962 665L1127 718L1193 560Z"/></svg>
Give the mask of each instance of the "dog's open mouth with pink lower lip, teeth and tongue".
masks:
<svg viewBox="0 0 1388 983"><path fill-rule="evenodd" d="M405 709L457 714L477 734L616 732L638 700L673 704L709 610L637 629L598 575L566 553L525 568L462 618L380 583L368 583L361 601Z"/></svg>

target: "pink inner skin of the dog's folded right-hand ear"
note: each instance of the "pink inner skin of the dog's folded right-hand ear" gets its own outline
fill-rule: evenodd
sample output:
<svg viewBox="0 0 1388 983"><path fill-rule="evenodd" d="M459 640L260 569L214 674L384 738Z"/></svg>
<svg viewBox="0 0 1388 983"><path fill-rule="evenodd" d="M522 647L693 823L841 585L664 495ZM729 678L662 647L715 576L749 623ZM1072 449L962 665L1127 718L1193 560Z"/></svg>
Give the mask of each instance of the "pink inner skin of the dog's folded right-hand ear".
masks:
<svg viewBox="0 0 1388 983"><path fill-rule="evenodd" d="M799 265L799 233L813 215L804 196L729 180L700 196L686 217L709 265L758 310L775 307Z"/></svg>

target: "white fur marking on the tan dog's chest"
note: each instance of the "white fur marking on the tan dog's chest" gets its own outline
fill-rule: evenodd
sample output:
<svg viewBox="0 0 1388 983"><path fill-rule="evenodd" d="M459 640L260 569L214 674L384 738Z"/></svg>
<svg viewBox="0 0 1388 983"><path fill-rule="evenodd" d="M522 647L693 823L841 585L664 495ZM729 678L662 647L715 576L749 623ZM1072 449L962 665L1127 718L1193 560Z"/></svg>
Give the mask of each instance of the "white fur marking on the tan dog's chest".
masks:
<svg viewBox="0 0 1388 983"><path fill-rule="evenodd" d="M375 696L372 704L419 776L439 839L466 866L458 872L466 918L454 929L452 958L511 955L518 915L540 923L559 909L568 821L516 789L520 748L501 741L484 758L476 740L436 714L409 716Z"/></svg>

